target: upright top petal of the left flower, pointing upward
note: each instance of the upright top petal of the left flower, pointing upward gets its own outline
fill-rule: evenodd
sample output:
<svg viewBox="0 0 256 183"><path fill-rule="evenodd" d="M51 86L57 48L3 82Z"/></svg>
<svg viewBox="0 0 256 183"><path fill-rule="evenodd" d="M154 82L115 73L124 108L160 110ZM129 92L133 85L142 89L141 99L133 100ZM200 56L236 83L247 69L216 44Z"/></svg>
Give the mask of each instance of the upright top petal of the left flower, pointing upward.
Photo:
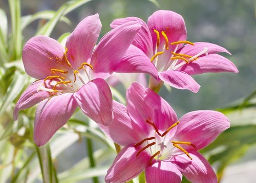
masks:
<svg viewBox="0 0 256 183"><path fill-rule="evenodd" d="M100 30L99 15L95 14L84 18L69 36L66 43L67 58L75 68L80 67L83 62L90 63Z"/></svg>

